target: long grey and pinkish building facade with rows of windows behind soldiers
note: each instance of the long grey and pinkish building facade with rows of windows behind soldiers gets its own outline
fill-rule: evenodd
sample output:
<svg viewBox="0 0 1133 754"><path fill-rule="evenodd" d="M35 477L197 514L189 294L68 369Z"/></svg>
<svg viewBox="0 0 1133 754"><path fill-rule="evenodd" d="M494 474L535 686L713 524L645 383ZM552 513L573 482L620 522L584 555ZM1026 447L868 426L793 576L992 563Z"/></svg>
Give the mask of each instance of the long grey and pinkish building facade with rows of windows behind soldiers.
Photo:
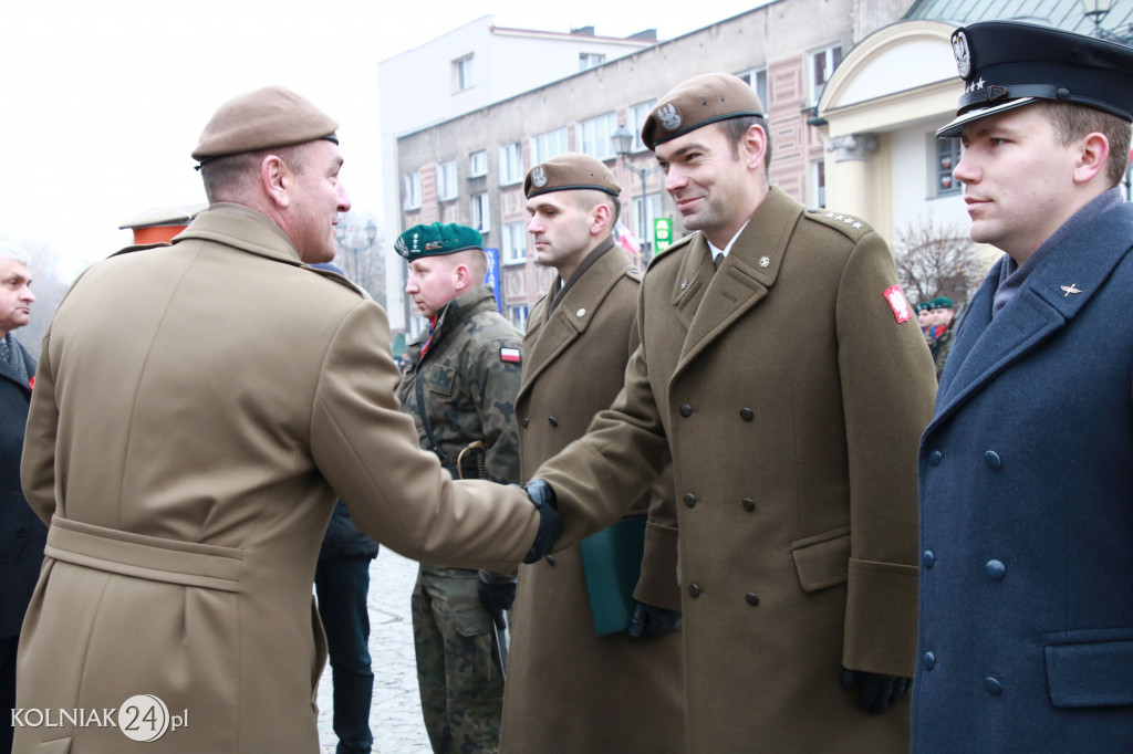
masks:
<svg viewBox="0 0 1133 754"><path fill-rule="evenodd" d="M843 53L909 7L903 0L776 0L633 54L606 61L506 100L402 135L397 140L401 226L461 222L499 249L503 307L518 326L553 273L529 255L522 183L535 164L563 152L586 152L622 185L622 223L648 237L654 217L680 215L664 175L640 138L619 157L610 136L634 134L658 96L697 74L743 77L767 109L772 181L812 205L825 205L825 142L812 120ZM642 187L644 182L644 187ZM644 221L644 222L642 222ZM651 252L649 239L645 254ZM410 329L423 326L410 322Z"/></svg>

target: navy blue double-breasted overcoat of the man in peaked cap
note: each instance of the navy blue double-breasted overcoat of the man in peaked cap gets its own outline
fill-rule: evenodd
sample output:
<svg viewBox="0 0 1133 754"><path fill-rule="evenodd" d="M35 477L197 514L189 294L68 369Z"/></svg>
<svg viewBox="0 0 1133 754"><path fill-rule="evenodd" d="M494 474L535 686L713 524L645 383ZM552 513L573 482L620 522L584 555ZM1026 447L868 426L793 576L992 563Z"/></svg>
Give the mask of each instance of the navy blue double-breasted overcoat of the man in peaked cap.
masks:
<svg viewBox="0 0 1133 754"><path fill-rule="evenodd" d="M955 335L920 448L912 751L1133 752L1133 205Z"/></svg>

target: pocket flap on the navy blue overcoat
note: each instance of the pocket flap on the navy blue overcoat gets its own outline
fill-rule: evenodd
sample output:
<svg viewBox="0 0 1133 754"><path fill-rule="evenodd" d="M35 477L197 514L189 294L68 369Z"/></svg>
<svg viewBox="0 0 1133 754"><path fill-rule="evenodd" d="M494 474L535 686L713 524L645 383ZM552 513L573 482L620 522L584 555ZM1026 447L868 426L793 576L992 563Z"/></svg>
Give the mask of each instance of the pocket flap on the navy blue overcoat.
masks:
<svg viewBox="0 0 1133 754"><path fill-rule="evenodd" d="M1055 706L1133 704L1133 640L1054 644L1046 656Z"/></svg>

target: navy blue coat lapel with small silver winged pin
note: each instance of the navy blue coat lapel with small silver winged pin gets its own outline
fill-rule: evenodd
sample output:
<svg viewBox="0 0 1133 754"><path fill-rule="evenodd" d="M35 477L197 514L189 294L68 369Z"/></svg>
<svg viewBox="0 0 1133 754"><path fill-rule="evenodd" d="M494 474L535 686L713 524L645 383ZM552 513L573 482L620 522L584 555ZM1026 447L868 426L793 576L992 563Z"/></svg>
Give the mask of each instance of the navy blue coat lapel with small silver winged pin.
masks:
<svg viewBox="0 0 1133 754"><path fill-rule="evenodd" d="M956 333L929 430L1087 307L1128 254L1131 237L1133 205L1107 212L1045 259L994 319L1000 265L993 267Z"/></svg>

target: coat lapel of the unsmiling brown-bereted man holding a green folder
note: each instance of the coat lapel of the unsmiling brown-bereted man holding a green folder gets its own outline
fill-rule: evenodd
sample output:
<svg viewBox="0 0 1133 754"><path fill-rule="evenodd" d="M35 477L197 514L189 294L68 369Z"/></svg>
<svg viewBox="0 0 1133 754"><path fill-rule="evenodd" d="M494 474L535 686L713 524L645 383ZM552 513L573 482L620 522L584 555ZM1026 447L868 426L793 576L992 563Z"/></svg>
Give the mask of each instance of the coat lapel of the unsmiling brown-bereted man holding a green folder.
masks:
<svg viewBox="0 0 1133 754"><path fill-rule="evenodd" d="M520 397L530 389L539 375L586 332L603 299L629 267L629 259L621 250L616 247L611 248L582 273L582 277L576 281L554 311L544 314L551 305L552 292L559 290L561 279L555 275L551 291L544 294L537 305L540 307L537 311L540 316L536 318L537 322L531 325L523 339L527 368L523 370L523 382L519 388Z"/></svg>

